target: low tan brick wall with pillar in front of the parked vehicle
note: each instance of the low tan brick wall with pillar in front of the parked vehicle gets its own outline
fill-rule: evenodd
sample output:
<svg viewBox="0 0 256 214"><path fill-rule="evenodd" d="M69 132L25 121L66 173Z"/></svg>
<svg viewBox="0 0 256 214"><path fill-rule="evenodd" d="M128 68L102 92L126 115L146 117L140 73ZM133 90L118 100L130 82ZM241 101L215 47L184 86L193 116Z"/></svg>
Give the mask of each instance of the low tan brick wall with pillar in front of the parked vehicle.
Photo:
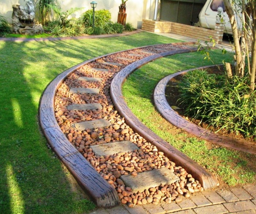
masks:
<svg viewBox="0 0 256 214"><path fill-rule="evenodd" d="M142 30L150 32L167 32L178 34L182 36L188 36L194 39L200 40L209 40L209 36L212 36L212 39L215 40L217 44L221 44L223 36L223 24L217 24L215 30L209 30L206 28L200 28L195 26L189 26L186 24L174 23L174 22L165 22L160 21L156 22L153 20L142 20Z"/></svg>

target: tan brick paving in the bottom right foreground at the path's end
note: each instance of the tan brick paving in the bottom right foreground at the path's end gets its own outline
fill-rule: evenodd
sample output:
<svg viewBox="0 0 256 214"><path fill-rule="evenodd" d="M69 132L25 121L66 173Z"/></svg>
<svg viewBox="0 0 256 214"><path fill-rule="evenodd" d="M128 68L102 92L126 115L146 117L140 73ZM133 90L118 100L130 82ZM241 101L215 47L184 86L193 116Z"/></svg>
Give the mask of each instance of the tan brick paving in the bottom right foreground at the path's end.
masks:
<svg viewBox="0 0 256 214"><path fill-rule="evenodd" d="M179 203L158 205L117 206L98 209L90 214L256 214L256 187L246 185L230 190L203 191L190 198L182 197Z"/></svg>

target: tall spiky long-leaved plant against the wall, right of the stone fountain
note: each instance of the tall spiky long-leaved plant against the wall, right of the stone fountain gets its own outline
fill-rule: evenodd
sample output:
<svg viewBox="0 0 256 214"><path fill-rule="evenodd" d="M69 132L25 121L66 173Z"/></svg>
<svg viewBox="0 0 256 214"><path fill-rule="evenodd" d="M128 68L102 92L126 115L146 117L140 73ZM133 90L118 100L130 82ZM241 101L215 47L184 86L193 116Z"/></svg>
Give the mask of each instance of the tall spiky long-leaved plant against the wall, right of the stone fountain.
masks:
<svg viewBox="0 0 256 214"><path fill-rule="evenodd" d="M56 12L52 9L60 8L59 0L34 0L35 4L35 19L37 22L44 25L45 23L54 20Z"/></svg>

